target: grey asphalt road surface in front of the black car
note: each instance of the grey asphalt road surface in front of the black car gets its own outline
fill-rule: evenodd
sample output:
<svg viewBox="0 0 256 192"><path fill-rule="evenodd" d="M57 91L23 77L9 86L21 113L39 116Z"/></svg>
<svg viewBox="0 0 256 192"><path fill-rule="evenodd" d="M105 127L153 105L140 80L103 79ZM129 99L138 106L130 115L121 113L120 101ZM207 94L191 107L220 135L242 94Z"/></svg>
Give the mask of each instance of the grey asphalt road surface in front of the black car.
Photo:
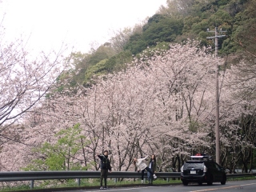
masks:
<svg viewBox="0 0 256 192"><path fill-rule="evenodd" d="M108 190L72 190L72 192L96 192L96 191L114 191L114 192L203 192L203 191L220 191L220 192L235 192L235 191L246 191L254 192L256 191L256 179L246 180L246 181L235 181L226 182L226 185L221 185L219 183L214 183L212 186L207 186L203 184L198 186L198 184L189 184L188 186L182 185L170 185L170 186L136 186L136 187L122 187L122 188L110 188ZM64 191L62 191L64 192ZM65 192L68 192L67 190ZM69 190L70 192L70 190Z"/></svg>

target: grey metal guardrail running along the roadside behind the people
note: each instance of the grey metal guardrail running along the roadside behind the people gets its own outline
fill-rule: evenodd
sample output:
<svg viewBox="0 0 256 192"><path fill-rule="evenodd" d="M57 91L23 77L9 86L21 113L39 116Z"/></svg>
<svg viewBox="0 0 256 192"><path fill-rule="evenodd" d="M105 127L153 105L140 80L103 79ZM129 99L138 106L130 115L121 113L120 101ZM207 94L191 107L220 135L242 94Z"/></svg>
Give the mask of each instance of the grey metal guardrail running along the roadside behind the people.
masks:
<svg viewBox="0 0 256 192"><path fill-rule="evenodd" d="M30 181L30 188L34 188L34 180L51 180L51 179L78 179L80 186L81 178L100 178L100 171L84 170L63 170L63 171L17 171L17 172L0 172L0 182L13 181ZM158 178L180 178L180 172L156 172ZM108 174L108 178L141 178L141 173L131 171L114 171ZM227 174L227 178L238 178L256 176L252 174ZM146 178L146 173L145 173Z"/></svg>

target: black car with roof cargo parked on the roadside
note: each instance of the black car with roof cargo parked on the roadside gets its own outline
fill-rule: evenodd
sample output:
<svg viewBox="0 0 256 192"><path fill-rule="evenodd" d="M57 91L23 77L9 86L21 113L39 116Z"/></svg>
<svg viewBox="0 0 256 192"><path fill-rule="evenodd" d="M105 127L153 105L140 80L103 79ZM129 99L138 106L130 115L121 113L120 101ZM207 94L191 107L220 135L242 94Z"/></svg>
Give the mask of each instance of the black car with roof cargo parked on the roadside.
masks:
<svg viewBox="0 0 256 192"><path fill-rule="evenodd" d="M190 160L186 161L181 169L181 179L184 186L189 182L198 182L202 185L206 182L211 186L213 182L221 182L226 184L226 171L218 163L214 162L209 156L191 156Z"/></svg>

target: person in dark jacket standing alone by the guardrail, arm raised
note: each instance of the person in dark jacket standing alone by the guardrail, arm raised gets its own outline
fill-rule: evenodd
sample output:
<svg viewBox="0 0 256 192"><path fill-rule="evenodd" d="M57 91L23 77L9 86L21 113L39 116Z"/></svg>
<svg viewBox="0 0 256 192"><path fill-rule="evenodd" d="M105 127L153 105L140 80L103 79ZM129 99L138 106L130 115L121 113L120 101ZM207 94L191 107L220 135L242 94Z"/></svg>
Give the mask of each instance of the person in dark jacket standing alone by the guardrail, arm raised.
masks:
<svg viewBox="0 0 256 192"><path fill-rule="evenodd" d="M101 167L101 187L100 187L100 189L103 190L103 189L107 188L106 178L107 178L108 170L110 170L110 173L111 173L111 166L110 166L110 159L108 158L108 151L104 150L103 155L98 154L98 158L101 159L101 164L100 164L100 167ZM104 188L102 186L103 178L104 178L104 184L105 184Z"/></svg>

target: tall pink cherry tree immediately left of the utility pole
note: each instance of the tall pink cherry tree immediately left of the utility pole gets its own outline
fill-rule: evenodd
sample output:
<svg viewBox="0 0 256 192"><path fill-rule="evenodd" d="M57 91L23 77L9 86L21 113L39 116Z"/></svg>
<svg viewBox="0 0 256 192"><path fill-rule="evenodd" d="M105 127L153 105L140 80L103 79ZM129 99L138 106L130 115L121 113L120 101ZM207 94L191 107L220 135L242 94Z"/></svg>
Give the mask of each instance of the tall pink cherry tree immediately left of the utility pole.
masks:
<svg viewBox="0 0 256 192"><path fill-rule="evenodd" d="M169 153L176 158L166 160L180 165L182 154L194 154L193 149L199 150L197 146L210 149L207 134L213 124L207 125L206 118L214 109L213 66L216 59L202 50L191 49L190 44L173 46L167 52L166 56L160 54L149 63L155 70L154 77L164 85L158 98L162 109L168 111L164 130L170 130L171 134L162 135L168 136L164 141L170 141Z"/></svg>

